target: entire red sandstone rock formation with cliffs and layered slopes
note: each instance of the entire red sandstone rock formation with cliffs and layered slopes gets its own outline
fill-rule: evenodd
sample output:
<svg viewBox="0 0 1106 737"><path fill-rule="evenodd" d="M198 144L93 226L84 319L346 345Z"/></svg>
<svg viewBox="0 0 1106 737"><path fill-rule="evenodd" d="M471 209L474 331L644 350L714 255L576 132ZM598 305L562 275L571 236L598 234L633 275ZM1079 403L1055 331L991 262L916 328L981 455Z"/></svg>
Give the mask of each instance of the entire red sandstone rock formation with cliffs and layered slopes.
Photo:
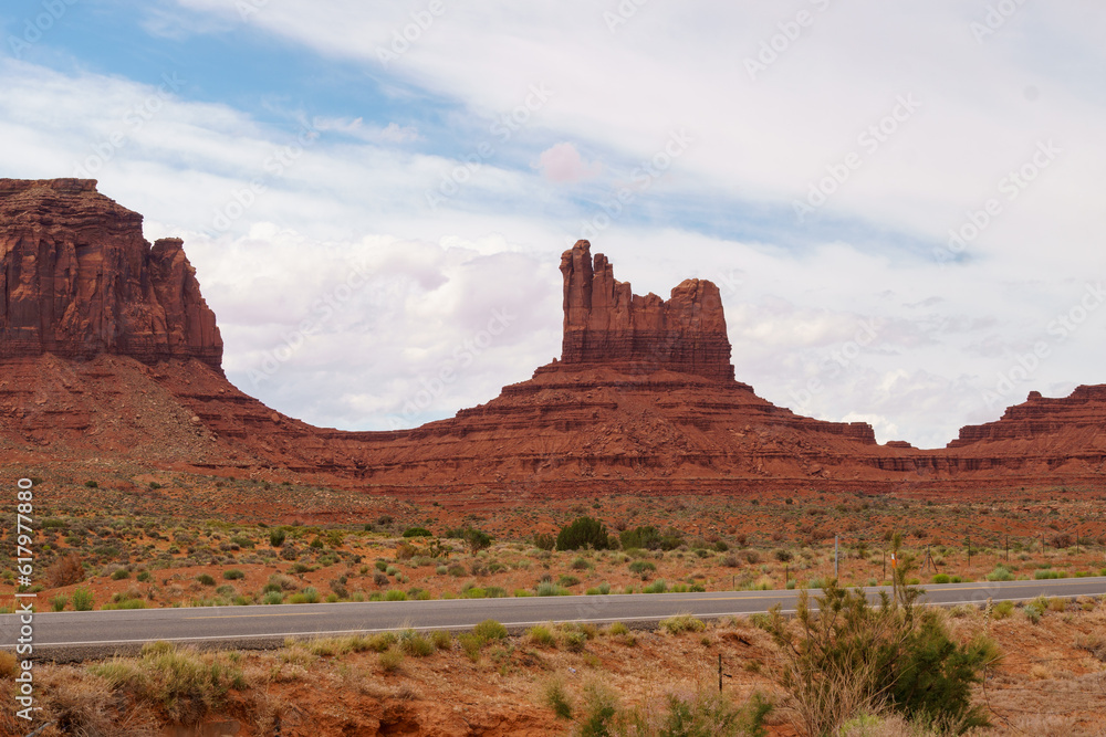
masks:
<svg viewBox="0 0 1106 737"><path fill-rule="evenodd" d="M586 241L562 257L561 360L456 417L344 432L223 376L181 242L93 180L0 180L0 462L299 474L400 496L604 492L949 492L1100 486L1106 386L1033 392L948 448L877 444L734 379L718 287L637 296Z"/></svg>

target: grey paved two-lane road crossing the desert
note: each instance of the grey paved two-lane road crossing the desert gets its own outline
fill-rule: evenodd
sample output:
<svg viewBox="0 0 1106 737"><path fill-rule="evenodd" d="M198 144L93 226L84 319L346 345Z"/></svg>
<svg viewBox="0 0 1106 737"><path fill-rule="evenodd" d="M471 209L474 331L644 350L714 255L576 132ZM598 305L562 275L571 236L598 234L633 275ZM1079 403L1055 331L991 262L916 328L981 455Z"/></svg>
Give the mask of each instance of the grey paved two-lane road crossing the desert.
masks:
<svg viewBox="0 0 1106 737"><path fill-rule="evenodd" d="M926 586L925 600L936 604L1026 601L1039 596L1106 594L1106 578L1072 578L997 583ZM886 588L866 588L877 598ZM814 592L816 593L816 591ZM776 603L794 610L795 591L718 591L709 593L611 594L606 597L533 597L450 599L335 604L280 604L196 609L139 609L95 612L41 612L34 615L36 652L72 654L113 649L133 650L152 640L239 646L280 643L289 636L337 635L415 627L469 629L495 619L513 630L553 621L649 623L675 613L702 618L764 612ZM45 604L45 602L41 602ZM0 646L18 636L17 614L0 615ZM128 646L129 645L129 646Z"/></svg>

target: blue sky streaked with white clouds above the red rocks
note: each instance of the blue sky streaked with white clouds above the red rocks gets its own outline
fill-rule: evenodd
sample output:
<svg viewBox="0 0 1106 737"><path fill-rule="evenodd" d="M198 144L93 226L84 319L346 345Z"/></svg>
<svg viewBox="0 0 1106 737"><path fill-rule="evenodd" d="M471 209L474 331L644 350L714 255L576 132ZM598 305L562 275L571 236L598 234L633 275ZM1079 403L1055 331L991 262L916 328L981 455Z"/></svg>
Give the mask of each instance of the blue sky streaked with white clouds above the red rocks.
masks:
<svg viewBox="0 0 1106 737"><path fill-rule="evenodd" d="M737 378L940 448L1106 382L1093 0L9 0L0 176L176 235L228 378L322 427L560 354L560 254L721 288ZM1095 194L1095 192L1099 194Z"/></svg>

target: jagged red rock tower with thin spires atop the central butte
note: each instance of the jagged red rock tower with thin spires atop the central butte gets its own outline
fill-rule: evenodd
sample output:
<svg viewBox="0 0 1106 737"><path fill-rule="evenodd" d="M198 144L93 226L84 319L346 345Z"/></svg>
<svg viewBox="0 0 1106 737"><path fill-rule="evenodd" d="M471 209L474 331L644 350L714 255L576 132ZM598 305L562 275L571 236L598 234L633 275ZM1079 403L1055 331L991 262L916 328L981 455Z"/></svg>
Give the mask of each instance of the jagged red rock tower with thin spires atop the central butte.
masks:
<svg viewBox="0 0 1106 737"><path fill-rule="evenodd" d="M668 301L616 281L606 256L577 241L561 256L563 364L632 365L733 381L722 298L713 283L689 278Z"/></svg>

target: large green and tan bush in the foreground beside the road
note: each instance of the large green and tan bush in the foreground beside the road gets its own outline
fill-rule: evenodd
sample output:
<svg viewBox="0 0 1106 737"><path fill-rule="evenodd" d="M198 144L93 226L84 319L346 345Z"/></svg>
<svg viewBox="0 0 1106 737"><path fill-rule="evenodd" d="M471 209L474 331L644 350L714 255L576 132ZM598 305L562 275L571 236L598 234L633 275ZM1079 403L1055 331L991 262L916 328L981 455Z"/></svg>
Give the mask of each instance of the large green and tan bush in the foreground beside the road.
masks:
<svg viewBox="0 0 1106 737"><path fill-rule="evenodd" d="M985 638L953 642L938 612L915 606L919 594L902 588L901 603L883 593L873 607L863 591L831 579L816 599L817 611L805 591L800 594L797 628L773 608L768 630L784 660L781 684L808 734L836 733L880 701L908 719L941 723L954 734L988 726L983 709L971 703L971 688L998 660L995 645Z"/></svg>

